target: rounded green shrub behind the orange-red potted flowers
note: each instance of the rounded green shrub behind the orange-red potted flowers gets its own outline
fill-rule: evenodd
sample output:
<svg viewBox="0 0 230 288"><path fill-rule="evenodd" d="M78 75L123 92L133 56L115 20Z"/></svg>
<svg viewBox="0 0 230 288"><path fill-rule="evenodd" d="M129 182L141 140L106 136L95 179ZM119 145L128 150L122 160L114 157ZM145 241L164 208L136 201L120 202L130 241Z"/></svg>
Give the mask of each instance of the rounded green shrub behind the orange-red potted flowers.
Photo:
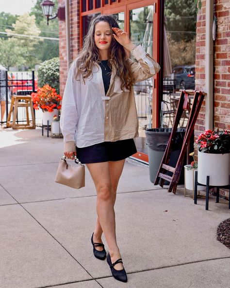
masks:
<svg viewBox="0 0 230 288"><path fill-rule="evenodd" d="M59 84L59 58L54 57L42 62L38 69L38 86L49 85L60 92Z"/></svg>

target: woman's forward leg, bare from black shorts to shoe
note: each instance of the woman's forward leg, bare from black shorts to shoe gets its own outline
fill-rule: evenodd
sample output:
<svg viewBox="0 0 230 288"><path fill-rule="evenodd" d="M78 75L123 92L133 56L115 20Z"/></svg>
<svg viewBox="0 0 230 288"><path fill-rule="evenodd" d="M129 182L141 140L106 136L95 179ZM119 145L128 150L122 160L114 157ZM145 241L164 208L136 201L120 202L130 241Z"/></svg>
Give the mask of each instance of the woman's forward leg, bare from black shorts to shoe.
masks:
<svg viewBox="0 0 230 288"><path fill-rule="evenodd" d="M115 162L114 162L115 163ZM122 165L121 165L122 163ZM117 171L116 166L122 167L124 165L124 160L117 164L112 164L113 168L110 167L109 162L102 163L91 163L86 164L89 172L94 181L96 190L97 190L97 214L99 223L104 232L106 242L109 246L109 252L111 256L112 263L115 262L118 258L120 258L119 248L116 243L116 235L115 235L115 211L114 211L114 191L110 175L111 171ZM120 174L122 172L120 169ZM113 173L112 173L113 174ZM119 173L117 173L118 175ZM119 180L119 179L118 179ZM113 181L114 184L114 181ZM116 183L117 186L117 183ZM95 239L94 239L95 241ZM95 241L96 242L96 241ZM123 265L118 263L115 265L115 269L120 270L123 269Z"/></svg>

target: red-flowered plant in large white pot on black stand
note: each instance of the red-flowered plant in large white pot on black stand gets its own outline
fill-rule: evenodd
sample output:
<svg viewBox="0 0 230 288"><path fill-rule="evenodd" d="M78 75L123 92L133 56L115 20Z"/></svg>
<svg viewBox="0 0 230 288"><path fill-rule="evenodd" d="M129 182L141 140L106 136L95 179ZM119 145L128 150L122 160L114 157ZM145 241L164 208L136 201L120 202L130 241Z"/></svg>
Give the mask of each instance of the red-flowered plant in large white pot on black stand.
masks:
<svg viewBox="0 0 230 288"><path fill-rule="evenodd" d="M196 140L198 144L198 183L210 186L229 185L230 131L206 130Z"/></svg>

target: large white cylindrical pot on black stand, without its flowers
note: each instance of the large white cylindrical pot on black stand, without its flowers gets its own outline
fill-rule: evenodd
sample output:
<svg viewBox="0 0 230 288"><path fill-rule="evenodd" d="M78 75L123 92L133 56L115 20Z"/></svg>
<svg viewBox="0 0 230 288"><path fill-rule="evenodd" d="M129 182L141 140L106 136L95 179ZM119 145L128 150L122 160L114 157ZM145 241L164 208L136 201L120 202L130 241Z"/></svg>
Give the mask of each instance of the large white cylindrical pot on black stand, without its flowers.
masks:
<svg viewBox="0 0 230 288"><path fill-rule="evenodd" d="M198 151L198 182L210 186L229 185L230 153L212 154Z"/></svg>

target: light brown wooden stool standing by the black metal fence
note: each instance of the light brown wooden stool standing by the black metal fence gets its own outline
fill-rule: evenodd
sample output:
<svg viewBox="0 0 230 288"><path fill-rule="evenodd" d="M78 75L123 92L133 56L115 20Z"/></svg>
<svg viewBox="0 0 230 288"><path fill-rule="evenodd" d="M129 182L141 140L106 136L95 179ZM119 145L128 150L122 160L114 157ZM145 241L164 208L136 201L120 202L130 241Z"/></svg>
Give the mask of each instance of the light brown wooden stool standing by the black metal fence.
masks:
<svg viewBox="0 0 230 288"><path fill-rule="evenodd" d="M25 107L26 108L26 124L18 124L16 123L17 119L17 108L18 107ZM30 123L29 119L29 109L31 109L31 115L32 115L32 123ZM10 121L11 115L13 113L13 122ZM13 129L35 129L35 117L34 117L34 111L33 111L33 101L32 97L30 95L13 95L11 97L11 106L10 106L10 112L7 117L6 127L12 127Z"/></svg>

